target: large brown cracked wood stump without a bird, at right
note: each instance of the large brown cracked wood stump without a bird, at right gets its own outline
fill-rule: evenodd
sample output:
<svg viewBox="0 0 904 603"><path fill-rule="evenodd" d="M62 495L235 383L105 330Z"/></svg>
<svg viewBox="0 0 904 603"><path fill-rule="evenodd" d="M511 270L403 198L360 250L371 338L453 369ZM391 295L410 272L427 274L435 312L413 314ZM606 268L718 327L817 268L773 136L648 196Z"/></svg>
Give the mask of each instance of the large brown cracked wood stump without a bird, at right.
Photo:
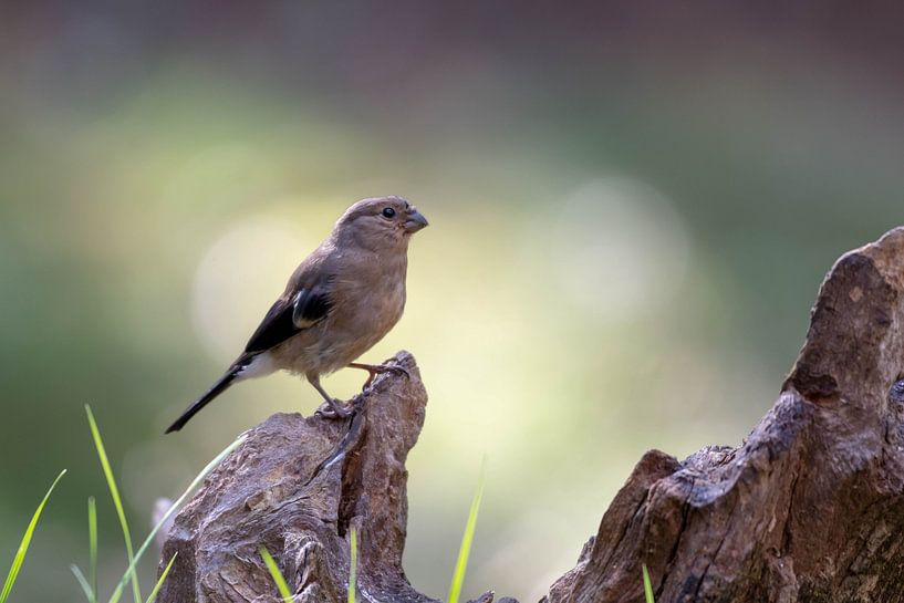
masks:
<svg viewBox="0 0 904 603"><path fill-rule="evenodd" d="M646 453L545 599L904 601L904 228L844 254L738 448Z"/></svg>

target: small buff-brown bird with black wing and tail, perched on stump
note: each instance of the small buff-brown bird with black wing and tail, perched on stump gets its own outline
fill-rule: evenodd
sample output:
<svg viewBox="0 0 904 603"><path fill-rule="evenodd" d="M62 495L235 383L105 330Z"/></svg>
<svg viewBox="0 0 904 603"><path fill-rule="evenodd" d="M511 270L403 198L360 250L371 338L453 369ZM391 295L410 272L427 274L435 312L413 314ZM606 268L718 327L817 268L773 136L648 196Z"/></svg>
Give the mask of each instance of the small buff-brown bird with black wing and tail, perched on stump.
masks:
<svg viewBox="0 0 904 603"><path fill-rule="evenodd" d="M181 429L231 385L277 371L306 378L324 399L319 412L330 418L347 417L352 409L326 393L321 376L344 367L361 368L370 374L366 388L380 373L405 373L394 365L355 361L402 318L408 242L427 225L402 197L352 205L289 278L245 351L166 433Z"/></svg>

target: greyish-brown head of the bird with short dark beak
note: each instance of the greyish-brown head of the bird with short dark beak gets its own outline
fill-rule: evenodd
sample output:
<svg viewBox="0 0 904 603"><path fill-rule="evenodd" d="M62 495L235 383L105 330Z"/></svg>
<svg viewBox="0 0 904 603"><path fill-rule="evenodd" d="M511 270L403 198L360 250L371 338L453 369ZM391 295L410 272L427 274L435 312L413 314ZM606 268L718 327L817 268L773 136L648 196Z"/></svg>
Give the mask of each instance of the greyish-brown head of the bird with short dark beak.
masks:
<svg viewBox="0 0 904 603"><path fill-rule="evenodd" d="M346 209L333 236L374 251L405 249L411 236L426 226L427 219L402 197L377 197Z"/></svg>

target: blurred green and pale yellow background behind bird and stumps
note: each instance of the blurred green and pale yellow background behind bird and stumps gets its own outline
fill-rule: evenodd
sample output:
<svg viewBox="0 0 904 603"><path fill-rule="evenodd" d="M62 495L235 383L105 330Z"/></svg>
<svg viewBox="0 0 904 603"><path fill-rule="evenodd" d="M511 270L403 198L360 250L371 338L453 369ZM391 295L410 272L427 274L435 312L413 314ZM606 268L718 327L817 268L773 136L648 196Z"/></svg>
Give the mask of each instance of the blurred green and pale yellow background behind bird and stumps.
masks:
<svg viewBox="0 0 904 603"><path fill-rule="evenodd" d="M406 570L534 601L641 454L737 445L843 251L902 221L904 6L403 0L0 3L0 570L56 472L13 600L80 601L85 499L134 531L236 434L310 413L288 376L163 429L352 201L430 219ZM328 386L352 395L363 375ZM149 582L154 562L142 566Z"/></svg>

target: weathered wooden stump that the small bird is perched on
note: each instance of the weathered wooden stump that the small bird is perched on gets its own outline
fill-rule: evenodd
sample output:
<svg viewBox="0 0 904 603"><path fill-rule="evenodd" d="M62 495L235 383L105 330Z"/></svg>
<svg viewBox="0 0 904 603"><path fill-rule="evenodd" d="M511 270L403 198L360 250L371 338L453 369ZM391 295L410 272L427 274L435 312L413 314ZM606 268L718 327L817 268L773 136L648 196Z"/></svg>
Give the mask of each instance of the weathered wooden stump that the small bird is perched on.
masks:
<svg viewBox="0 0 904 603"><path fill-rule="evenodd" d="M249 432L178 513L162 559L179 555L160 603L277 601L261 545L298 603L342 603L352 524L360 600L435 603L402 570L405 458L424 425L427 393L411 354L388 362L411 378L378 376L356 398L354 419L278 414Z"/></svg>

